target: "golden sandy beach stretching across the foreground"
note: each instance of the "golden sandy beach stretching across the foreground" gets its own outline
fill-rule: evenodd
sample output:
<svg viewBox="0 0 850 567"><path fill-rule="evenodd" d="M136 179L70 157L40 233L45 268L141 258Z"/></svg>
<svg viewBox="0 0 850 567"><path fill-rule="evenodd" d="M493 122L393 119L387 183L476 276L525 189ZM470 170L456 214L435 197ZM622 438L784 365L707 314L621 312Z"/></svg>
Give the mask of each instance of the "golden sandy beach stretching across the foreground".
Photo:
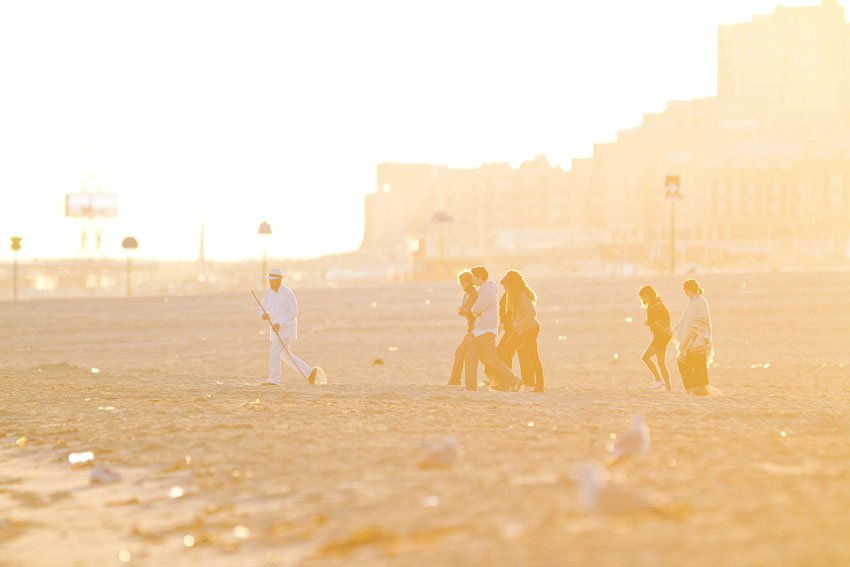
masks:
<svg viewBox="0 0 850 567"><path fill-rule="evenodd" d="M640 362L637 290L675 320L681 278L530 278L543 394L444 385L464 332L451 283L297 290L294 350L323 386L263 384L249 290L2 303L0 565L849 563L850 274L700 280L707 398L672 351L670 394ZM612 474L670 513L587 514L575 467L633 412L652 448ZM419 469L447 436L462 460ZM91 486L68 462L85 451L121 481Z"/></svg>

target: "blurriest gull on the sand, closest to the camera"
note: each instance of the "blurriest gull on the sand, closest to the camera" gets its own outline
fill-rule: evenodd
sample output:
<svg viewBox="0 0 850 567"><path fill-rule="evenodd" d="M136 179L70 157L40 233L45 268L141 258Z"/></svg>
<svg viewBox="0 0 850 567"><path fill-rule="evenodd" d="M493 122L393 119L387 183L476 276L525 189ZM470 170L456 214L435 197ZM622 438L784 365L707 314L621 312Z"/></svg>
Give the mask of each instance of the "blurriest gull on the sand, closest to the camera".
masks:
<svg viewBox="0 0 850 567"><path fill-rule="evenodd" d="M610 481L608 472L596 462L584 463L576 469L578 497L582 509L603 516L632 516L656 513L678 515L669 499L657 492L629 490Z"/></svg>

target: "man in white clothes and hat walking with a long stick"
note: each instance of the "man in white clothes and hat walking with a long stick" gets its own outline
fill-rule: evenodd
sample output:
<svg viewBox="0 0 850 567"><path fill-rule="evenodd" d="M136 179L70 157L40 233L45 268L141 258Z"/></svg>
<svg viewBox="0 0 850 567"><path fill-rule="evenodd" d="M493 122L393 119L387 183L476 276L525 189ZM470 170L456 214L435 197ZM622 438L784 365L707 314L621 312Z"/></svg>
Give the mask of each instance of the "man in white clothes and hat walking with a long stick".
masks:
<svg viewBox="0 0 850 567"><path fill-rule="evenodd" d="M269 384L280 384L280 361L314 384L319 369L292 353L292 339L298 338L298 302L292 290L283 285L283 270L272 268L266 276L269 288L263 295L263 308L258 310L264 320L271 321L269 329ZM263 309L266 310L263 313ZM278 340L280 336L280 340ZM285 349L285 350L284 350Z"/></svg>

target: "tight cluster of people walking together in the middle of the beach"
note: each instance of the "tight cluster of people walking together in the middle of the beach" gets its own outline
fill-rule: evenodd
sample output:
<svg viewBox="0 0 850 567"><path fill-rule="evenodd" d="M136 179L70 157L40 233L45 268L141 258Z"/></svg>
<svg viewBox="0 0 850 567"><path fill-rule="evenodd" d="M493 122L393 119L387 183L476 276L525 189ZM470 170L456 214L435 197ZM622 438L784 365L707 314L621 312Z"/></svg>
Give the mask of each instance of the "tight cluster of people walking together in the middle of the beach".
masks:
<svg viewBox="0 0 850 567"><path fill-rule="evenodd" d="M537 295L516 271L502 278L505 293L499 300L496 284L489 281L490 274L477 266L458 275L464 291L458 315L467 318L467 334L455 351L455 361L449 384L460 384L466 369L464 384L467 390L478 389L478 362L484 364L490 377L490 388L500 391L518 391L523 383L543 391L543 365L537 349L540 323L537 321ZM504 330L499 346L496 337ZM520 352L524 380L511 370L511 361Z"/></svg>

